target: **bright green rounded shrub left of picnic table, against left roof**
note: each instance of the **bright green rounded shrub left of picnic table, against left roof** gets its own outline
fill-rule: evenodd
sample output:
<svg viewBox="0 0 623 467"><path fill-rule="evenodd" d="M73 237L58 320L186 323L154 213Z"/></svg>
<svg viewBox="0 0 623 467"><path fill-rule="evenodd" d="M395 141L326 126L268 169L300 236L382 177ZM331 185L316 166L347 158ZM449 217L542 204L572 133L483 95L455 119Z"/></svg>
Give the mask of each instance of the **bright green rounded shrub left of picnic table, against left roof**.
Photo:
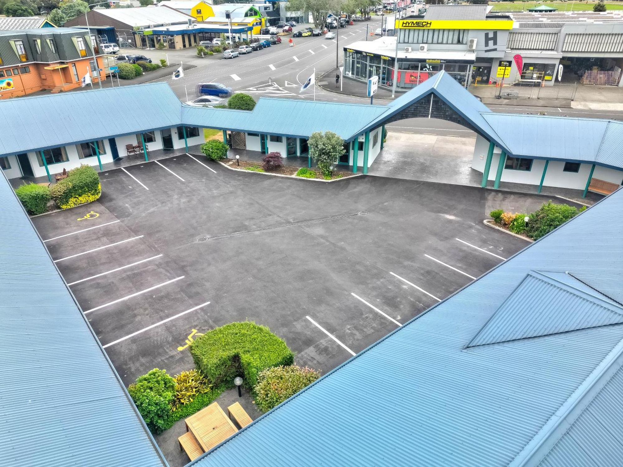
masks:
<svg viewBox="0 0 623 467"><path fill-rule="evenodd" d="M138 412L152 433L161 433L164 421L171 413L171 402L175 395L175 381L166 370L155 368L148 374L139 376L128 387L130 397Z"/></svg>

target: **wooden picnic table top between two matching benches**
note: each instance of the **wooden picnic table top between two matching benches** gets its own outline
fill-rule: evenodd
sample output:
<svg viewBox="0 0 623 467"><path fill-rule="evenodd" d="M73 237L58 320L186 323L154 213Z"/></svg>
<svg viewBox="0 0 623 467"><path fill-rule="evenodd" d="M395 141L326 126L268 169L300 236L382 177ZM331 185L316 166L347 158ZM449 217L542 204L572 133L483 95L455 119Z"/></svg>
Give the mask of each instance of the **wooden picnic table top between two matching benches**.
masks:
<svg viewBox="0 0 623 467"><path fill-rule="evenodd" d="M204 452L211 450L238 431L216 402L212 402L206 408L186 418L186 429L197 438Z"/></svg>

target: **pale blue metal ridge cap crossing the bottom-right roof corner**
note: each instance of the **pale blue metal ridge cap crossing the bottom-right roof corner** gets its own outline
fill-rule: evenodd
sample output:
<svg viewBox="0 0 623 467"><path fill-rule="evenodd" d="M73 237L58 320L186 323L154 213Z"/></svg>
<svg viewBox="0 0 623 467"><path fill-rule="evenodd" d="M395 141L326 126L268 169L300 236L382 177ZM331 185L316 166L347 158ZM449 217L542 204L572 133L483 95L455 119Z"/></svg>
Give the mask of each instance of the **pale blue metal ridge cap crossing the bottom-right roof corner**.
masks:
<svg viewBox="0 0 623 467"><path fill-rule="evenodd" d="M623 366L623 339L574 390L508 467L538 466L578 417Z"/></svg>

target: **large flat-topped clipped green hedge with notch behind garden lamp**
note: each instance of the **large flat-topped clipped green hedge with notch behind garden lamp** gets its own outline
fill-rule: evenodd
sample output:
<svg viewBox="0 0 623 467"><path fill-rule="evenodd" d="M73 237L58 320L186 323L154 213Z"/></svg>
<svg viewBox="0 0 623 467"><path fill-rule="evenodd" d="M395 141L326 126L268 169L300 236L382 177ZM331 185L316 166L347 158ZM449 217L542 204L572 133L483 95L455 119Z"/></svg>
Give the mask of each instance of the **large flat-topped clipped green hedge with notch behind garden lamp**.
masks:
<svg viewBox="0 0 623 467"><path fill-rule="evenodd" d="M197 368L214 384L232 387L234 378L242 375L249 389L262 370L294 361L285 341L251 321L208 331L191 344L190 352Z"/></svg>

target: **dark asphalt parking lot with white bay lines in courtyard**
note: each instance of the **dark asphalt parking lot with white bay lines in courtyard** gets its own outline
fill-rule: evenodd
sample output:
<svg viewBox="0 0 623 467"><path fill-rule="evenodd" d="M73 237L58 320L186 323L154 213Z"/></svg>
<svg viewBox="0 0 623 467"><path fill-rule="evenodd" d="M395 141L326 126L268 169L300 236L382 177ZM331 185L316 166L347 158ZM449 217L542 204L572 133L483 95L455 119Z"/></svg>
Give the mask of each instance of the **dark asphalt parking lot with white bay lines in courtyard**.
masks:
<svg viewBox="0 0 623 467"><path fill-rule="evenodd" d="M189 335L244 319L326 373L528 245L483 225L489 210L544 200L196 155L100 178L97 202L33 222L125 384L193 367Z"/></svg>

